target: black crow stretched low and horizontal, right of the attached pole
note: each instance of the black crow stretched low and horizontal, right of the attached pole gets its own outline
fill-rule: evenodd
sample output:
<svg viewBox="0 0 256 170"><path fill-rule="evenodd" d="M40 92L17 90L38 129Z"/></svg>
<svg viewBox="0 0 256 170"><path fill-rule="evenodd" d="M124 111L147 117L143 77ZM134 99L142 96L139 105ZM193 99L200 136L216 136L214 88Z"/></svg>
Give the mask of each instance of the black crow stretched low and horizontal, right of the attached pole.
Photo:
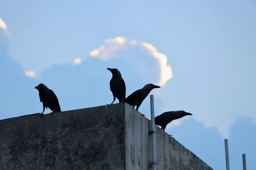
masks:
<svg viewBox="0 0 256 170"><path fill-rule="evenodd" d="M161 115L155 117L155 124L161 125L161 129L165 129L166 125L172 122L175 119L182 118L188 115L192 115L191 113L187 113L186 111L166 111Z"/></svg>

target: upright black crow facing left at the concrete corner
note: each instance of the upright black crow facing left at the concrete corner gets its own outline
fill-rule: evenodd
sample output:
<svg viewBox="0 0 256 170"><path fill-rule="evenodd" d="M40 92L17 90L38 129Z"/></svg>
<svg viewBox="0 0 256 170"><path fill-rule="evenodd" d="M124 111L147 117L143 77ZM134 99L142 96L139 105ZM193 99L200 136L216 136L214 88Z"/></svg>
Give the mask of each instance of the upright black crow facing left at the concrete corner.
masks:
<svg viewBox="0 0 256 170"><path fill-rule="evenodd" d="M118 69L115 69L115 68L114 69L107 68L107 69L112 73L112 78L109 82L110 90L113 94L113 102L111 104L114 103L116 98L119 100L119 103L124 102L126 88L125 88L125 83L120 71L118 71Z"/></svg>

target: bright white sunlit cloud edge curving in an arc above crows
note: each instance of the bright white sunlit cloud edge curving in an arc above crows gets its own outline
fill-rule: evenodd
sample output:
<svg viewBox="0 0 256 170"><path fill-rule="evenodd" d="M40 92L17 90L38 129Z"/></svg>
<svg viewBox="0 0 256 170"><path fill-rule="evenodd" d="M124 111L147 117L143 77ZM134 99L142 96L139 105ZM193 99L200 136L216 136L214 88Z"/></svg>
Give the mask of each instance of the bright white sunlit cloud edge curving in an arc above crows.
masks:
<svg viewBox="0 0 256 170"><path fill-rule="evenodd" d="M108 60L115 57L115 52L124 50L128 46L138 46L145 50L150 56L154 57L159 66L159 81L157 85L164 86L172 78L172 67L167 64L168 57L157 48L146 42L138 42L136 40L128 41L125 37L116 37L106 39L103 45L90 52L90 56L99 57L102 60Z"/></svg>

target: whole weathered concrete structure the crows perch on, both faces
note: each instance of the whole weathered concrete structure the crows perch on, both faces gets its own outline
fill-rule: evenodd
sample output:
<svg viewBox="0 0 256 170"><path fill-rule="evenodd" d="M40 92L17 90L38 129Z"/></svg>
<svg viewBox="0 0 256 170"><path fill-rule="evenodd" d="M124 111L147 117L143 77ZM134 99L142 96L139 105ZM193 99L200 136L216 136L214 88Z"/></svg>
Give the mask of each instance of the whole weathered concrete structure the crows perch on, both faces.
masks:
<svg viewBox="0 0 256 170"><path fill-rule="evenodd" d="M129 104L0 120L0 169L151 169L149 129ZM158 169L211 169L156 129Z"/></svg>

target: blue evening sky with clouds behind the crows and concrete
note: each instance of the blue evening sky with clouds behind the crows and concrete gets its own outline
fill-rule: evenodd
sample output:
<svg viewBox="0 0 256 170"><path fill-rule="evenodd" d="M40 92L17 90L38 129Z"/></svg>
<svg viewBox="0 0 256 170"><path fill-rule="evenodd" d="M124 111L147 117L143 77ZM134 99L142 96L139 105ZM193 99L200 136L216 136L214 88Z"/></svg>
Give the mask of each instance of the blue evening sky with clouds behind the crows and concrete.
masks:
<svg viewBox="0 0 256 170"><path fill-rule="evenodd" d="M42 112L34 89L61 110L110 104L116 67L126 94L155 83L155 113L193 116L166 128L214 169L256 169L255 1L0 0L0 119ZM149 97L140 112L150 118ZM13 107L15 106L15 107ZM50 113L50 110L45 113Z"/></svg>

